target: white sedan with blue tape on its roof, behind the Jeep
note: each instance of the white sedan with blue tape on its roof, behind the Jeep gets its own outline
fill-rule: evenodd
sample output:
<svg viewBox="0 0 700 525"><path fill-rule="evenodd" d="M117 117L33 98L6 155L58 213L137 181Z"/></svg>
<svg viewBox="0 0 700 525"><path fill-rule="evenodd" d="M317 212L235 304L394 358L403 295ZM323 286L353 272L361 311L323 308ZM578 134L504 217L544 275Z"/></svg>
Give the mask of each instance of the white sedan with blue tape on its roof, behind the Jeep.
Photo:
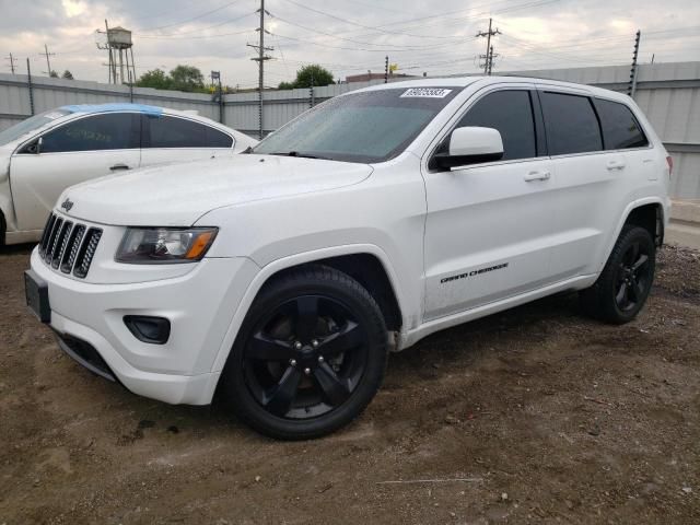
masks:
<svg viewBox="0 0 700 525"><path fill-rule="evenodd" d="M37 241L69 186L168 162L232 155L255 139L195 112L62 106L0 131L0 245Z"/></svg>

